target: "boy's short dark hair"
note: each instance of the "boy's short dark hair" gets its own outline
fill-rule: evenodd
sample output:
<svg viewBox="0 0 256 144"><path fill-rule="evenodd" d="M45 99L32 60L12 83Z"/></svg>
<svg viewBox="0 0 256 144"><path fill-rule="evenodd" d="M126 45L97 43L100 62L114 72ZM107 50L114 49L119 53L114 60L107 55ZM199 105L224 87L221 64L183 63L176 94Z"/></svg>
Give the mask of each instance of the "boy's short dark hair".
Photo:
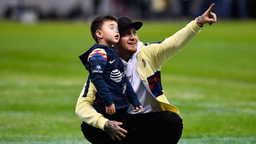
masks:
<svg viewBox="0 0 256 144"><path fill-rule="evenodd" d="M114 16L99 16L92 21L91 34L96 43L98 43L96 31L101 30L101 27L105 21L115 21L117 23L117 18Z"/></svg>

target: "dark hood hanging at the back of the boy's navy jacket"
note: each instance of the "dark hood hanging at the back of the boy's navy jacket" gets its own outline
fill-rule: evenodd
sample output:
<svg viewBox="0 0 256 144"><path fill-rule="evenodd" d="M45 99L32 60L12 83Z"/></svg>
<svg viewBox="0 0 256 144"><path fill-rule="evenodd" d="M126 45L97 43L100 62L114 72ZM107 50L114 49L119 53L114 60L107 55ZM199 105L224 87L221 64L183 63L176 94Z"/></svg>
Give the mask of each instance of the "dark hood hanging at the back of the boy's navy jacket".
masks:
<svg viewBox="0 0 256 144"><path fill-rule="evenodd" d="M86 51L85 53L83 53L82 55L79 56L79 59L81 60L81 62L83 63L84 67L86 70L88 70L88 57L89 54L97 48L101 48L101 49L107 49L108 46L105 45L99 45L99 44L94 44L88 51Z"/></svg>

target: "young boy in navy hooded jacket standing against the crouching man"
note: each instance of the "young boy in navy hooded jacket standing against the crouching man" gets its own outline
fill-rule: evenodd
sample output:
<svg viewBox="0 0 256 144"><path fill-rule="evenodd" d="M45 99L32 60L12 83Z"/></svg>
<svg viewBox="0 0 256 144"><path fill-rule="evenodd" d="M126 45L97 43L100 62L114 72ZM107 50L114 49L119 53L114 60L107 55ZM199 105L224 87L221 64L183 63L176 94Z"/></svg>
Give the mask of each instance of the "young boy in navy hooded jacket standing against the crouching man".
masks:
<svg viewBox="0 0 256 144"><path fill-rule="evenodd" d="M117 19L113 16L95 18L91 24L91 34L97 44L79 58L97 90L93 107L109 120L122 122L125 126L127 98L134 106L134 112L139 109L143 111L143 108L125 76L121 58L111 47L119 41Z"/></svg>

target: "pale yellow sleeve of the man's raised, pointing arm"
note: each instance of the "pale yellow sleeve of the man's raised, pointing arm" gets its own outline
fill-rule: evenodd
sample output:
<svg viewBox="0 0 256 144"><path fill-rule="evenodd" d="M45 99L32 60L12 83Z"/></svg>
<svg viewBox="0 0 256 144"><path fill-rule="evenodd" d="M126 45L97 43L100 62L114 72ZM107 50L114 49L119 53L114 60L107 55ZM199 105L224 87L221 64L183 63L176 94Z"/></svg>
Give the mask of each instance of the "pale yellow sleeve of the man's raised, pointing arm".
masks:
<svg viewBox="0 0 256 144"><path fill-rule="evenodd" d="M179 53L200 31L196 20L191 21L186 27L166 38L162 43L145 46L145 56L152 56L152 62L160 70L161 66L170 58Z"/></svg>

